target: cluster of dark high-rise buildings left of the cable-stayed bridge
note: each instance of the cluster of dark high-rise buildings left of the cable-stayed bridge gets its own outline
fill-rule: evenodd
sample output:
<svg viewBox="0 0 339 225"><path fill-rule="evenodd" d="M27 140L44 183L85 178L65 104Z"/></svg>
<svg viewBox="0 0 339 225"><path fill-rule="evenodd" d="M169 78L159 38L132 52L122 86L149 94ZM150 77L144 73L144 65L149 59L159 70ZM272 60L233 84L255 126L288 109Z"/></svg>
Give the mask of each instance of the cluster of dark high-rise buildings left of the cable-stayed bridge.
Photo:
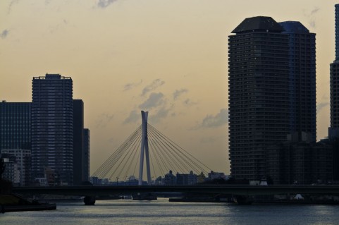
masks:
<svg viewBox="0 0 339 225"><path fill-rule="evenodd" d="M59 74L32 79L32 102L0 102L4 178L16 186L80 185L90 178L90 130L73 81Z"/></svg>

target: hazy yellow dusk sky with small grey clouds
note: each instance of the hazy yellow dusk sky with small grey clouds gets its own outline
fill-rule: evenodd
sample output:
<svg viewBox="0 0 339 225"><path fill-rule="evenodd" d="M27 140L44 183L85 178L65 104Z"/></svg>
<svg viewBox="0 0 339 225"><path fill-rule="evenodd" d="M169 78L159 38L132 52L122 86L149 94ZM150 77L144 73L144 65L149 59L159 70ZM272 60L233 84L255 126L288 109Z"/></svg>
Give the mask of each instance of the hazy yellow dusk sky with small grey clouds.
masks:
<svg viewBox="0 0 339 225"><path fill-rule="evenodd" d="M228 35L245 18L300 21L316 33L317 139L330 124L332 0L1 0L0 100L31 102L32 78L73 79L85 104L91 174L149 123L229 173Z"/></svg>

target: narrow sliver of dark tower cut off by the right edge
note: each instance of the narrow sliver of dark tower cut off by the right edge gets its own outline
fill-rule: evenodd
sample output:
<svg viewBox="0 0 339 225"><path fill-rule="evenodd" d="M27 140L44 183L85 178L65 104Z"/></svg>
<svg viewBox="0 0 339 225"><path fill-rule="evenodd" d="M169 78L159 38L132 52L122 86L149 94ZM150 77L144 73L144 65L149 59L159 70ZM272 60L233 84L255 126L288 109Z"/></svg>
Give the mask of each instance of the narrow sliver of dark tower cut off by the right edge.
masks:
<svg viewBox="0 0 339 225"><path fill-rule="evenodd" d="M335 60L330 65L331 127L330 138L339 138L339 4L335 5Z"/></svg>

